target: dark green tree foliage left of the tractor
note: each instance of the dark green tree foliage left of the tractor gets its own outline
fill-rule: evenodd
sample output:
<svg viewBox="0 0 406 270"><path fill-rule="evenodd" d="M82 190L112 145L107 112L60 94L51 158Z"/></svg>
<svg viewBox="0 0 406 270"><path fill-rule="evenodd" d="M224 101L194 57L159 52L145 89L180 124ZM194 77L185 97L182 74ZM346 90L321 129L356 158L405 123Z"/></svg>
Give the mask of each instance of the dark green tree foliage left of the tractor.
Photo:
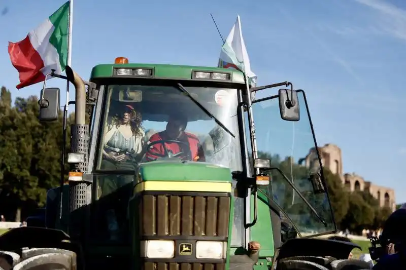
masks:
<svg viewBox="0 0 406 270"><path fill-rule="evenodd" d="M47 190L60 182L62 118L41 123L35 96L11 106L3 87L0 98L0 213L20 220L43 206Z"/></svg>

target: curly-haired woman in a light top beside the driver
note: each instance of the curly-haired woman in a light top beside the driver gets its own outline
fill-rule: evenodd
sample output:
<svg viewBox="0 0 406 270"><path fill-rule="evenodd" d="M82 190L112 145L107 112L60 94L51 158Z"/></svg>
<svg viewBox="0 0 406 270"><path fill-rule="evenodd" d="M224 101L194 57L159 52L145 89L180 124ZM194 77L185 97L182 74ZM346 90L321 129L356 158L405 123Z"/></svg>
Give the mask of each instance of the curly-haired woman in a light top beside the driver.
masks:
<svg viewBox="0 0 406 270"><path fill-rule="evenodd" d="M143 150L144 131L142 117L131 105L125 105L116 114L108 126L103 143L101 170L134 171L138 155ZM128 173L127 173L128 174ZM111 240L122 239L122 228L125 226L126 208L132 192L134 173L99 177L101 209L107 210L108 231ZM121 232L120 232L121 231Z"/></svg>

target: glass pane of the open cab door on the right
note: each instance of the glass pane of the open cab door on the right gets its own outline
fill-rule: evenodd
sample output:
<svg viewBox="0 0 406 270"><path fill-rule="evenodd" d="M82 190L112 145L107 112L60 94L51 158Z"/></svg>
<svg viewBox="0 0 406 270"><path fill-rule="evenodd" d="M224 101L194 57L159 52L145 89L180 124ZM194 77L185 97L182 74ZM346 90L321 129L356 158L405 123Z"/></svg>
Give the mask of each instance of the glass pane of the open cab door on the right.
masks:
<svg viewBox="0 0 406 270"><path fill-rule="evenodd" d="M259 192L274 200L287 214L301 236L335 230L333 214L326 192L318 193L312 184L312 175L321 168L306 100L298 92L300 120L289 122L281 119L278 96L254 102L253 113L258 147L258 158L270 159L271 183L261 186ZM287 179L283 176L285 175ZM323 175L321 175L323 177ZM290 181L300 191L299 196ZM323 183L325 183L322 178ZM316 210L317 215L301 197ZM288 219L285 220L289 222Z"/></svg>

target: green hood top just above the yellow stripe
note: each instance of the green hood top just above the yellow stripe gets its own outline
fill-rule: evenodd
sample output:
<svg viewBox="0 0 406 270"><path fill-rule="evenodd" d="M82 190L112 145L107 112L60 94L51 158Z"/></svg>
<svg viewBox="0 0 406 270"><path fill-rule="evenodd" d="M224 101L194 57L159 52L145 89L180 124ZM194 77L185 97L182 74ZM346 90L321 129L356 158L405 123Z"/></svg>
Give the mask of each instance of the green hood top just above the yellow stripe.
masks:
<svg viewBox="0 0 406 270"><path fill-rule="evenodd" d="M143 181L202 181L229 182L231 171L228 168L208 163L181 163L178 161L154 161L140 164Z"/></svg>

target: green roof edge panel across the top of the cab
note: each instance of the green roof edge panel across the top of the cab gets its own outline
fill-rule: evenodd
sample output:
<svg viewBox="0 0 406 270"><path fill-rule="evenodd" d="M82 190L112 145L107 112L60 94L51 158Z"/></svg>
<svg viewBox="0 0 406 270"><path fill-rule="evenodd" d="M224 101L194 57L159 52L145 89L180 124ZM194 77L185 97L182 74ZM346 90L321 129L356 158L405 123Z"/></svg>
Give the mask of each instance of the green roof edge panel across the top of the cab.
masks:
<svg viewBox="0 0 406 270"><path fill-rule="evenodd" d="M157 79L185 79L192 78L192 70L231 72L232 82L244 84L244 75L241 71L226 69L221 67L207 66L184 66L184 65L164 65L164 64L100 64L93 67L90 80L97 78L109 78L113 75L113 68L154 68L154 77ZM136 78L136 77L134 77Z"/></svg>

